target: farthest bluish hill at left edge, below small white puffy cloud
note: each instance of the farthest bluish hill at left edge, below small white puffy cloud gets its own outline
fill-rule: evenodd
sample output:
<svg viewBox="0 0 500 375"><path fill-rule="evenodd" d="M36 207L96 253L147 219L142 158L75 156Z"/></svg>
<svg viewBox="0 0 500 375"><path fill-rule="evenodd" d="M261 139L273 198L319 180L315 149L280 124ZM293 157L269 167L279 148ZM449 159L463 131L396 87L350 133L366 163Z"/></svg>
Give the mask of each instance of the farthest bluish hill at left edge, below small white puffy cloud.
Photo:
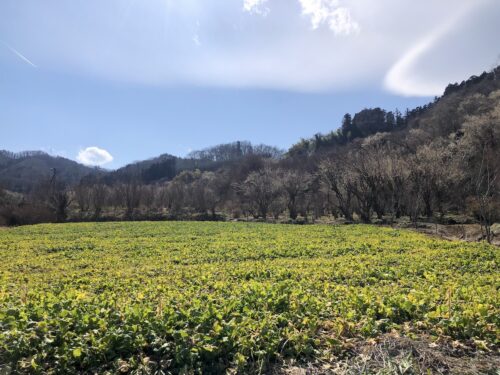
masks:
<svg viewBox="0 0 500 375"><path fill-rule="evenodd" d="M53 168L59 181L71 185L82 177L96 173L90 168L60 156L51 156L41 151L13 153L0 151L0 186L15 192L32 191L40 180L49 178Z"/></svg>

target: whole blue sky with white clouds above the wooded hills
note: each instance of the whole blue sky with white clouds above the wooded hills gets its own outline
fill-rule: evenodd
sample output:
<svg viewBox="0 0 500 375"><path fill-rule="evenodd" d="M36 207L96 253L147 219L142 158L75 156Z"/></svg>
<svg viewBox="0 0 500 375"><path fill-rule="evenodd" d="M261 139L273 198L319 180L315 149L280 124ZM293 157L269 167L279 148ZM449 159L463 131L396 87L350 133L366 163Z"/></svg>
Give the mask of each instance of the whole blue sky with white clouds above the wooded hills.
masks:
<svg viewBox="0 0 500 375"><path fill-rule="evenodd" d="M288 148L500 63L498 0L2 0L0 149Z"/></svg>

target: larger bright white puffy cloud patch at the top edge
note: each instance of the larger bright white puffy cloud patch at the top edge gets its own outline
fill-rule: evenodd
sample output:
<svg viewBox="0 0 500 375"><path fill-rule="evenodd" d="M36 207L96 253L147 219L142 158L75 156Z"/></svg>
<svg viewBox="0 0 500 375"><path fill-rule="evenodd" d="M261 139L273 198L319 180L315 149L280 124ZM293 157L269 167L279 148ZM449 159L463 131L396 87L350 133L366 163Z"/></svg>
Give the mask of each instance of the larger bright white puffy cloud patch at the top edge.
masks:
<svg viewBox="0 0 500 375"><path fill-rule="evenodd" d="M302 14L311 18L313 29L323 24L338 35L359 32L359 24L351 17L348 8L340 6L338 0L299 0Z"/></svg>

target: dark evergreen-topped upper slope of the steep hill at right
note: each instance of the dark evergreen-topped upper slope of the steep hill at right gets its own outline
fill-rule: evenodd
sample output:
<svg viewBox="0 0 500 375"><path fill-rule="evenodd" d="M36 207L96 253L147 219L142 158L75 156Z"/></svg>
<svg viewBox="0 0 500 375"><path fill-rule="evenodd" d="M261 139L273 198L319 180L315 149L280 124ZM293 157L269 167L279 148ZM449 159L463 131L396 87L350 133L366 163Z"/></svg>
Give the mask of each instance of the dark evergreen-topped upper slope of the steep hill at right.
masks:
<svg viewBox="0 0 500 375"><path fill-rule="evenodd" d="M349 146L377 133L404 136L412 129L422 130L428 137L445 137L459 131L467 116L487 112L500 106L500 66L461 83L448 85L443 96L433 102L401 113L381 108L365 108L353 116L347 113L337 130L316 134L293 145L289 156L330 152Z"/></svg>

